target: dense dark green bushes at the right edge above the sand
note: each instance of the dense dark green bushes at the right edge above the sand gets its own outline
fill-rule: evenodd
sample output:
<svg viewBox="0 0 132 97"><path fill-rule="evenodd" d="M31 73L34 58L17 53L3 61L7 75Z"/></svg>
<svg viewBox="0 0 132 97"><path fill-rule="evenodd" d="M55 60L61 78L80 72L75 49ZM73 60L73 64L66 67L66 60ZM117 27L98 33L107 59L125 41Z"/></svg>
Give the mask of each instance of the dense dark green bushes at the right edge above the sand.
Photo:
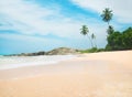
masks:
<svg viewBox="0 0 132 97"><path fill-rule="evenodd" d="M112 32L107 37L107 51L131 50L132 48L132 28L123 32Z"/></svg>

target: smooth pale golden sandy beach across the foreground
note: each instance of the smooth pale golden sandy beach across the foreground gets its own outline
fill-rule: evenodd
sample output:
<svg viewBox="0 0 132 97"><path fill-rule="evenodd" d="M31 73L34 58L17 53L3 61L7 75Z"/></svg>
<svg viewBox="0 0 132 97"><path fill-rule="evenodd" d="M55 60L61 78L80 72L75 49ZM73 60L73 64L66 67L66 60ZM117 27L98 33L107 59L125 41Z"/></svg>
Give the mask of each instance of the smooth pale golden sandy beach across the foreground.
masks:
<svg viewBox="0 0 132 97"><path fill-rule="evenodd" d="M0 97L132 97L132 51L0 71Z"/></svg>

